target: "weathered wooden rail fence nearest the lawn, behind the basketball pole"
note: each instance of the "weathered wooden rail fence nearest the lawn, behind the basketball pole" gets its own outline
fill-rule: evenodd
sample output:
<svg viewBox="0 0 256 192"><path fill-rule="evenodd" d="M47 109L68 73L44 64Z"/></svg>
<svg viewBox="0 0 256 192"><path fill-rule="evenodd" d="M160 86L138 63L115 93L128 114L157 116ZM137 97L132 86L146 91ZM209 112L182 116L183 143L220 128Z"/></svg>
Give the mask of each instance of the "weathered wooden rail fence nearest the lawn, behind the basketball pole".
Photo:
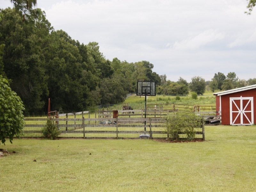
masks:
<svg viewBox="0 0 256 192"><path fill-rule="evenodd" d="M107 120L106 120L107 119ZM159 117L135 118L54 118L61 131L58 138L112 138L136 139L140 134L148 134L149 139L166 139L165 120ZM25 131L23 137L42 137L42 128L46 118L25 118ZM76 124L75 124L76 122ZM185 137L180 132L181 138ZM182 136L183 134L183 136ZM204 118L202 125L195 130L196 139L205 140Z"/></svg>

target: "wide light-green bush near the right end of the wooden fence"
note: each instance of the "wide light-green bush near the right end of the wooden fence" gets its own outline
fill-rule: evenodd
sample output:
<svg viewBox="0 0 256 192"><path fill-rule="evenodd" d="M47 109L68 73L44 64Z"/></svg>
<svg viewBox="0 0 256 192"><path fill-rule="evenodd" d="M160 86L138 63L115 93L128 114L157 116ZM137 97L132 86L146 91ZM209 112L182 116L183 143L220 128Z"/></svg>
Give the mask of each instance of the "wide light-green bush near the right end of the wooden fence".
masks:
<svg viewBox="0 0 256 192"><path fill-rule="evenodd" d="M196 136L195 127L201 123L201 118L191 112L171 113L166 117L165 132L170 139L179 140L180 134L186 134L188 140L193 140Z"/></svg>

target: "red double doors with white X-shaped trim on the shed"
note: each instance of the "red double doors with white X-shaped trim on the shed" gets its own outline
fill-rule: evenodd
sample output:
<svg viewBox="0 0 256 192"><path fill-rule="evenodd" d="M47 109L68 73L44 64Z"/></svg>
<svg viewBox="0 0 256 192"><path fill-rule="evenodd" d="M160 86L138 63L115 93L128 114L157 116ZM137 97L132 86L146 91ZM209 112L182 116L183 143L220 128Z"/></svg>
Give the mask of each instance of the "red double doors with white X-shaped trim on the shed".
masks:
<svg viewBox="0 0 256 192"><path fill-rule="evenodd" d="M252 125L253 97L230 98L230 125Z"/></svg>

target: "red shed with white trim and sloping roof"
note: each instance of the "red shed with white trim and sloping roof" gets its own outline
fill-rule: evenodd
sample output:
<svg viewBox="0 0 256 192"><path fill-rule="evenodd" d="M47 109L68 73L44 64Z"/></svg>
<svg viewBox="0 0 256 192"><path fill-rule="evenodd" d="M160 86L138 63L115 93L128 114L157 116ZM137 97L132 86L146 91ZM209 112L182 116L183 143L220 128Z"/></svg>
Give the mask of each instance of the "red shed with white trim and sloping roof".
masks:
<svg viewBox="0 0 256 192"><path fill-rule="evenodd" d="M256 84L214 93L223 125L253 125L256 118Z"/></svg>

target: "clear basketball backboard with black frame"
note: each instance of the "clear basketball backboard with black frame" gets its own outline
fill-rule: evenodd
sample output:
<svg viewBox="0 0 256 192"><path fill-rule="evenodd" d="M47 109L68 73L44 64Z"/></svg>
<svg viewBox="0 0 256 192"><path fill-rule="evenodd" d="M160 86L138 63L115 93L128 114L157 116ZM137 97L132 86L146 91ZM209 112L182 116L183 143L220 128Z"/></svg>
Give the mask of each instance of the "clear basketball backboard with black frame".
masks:
<svg viewBox="0 0 256 192"><path fill-rule="evenodd" d="M138 81L136 95L156 96L156 82Z"/></svg>

